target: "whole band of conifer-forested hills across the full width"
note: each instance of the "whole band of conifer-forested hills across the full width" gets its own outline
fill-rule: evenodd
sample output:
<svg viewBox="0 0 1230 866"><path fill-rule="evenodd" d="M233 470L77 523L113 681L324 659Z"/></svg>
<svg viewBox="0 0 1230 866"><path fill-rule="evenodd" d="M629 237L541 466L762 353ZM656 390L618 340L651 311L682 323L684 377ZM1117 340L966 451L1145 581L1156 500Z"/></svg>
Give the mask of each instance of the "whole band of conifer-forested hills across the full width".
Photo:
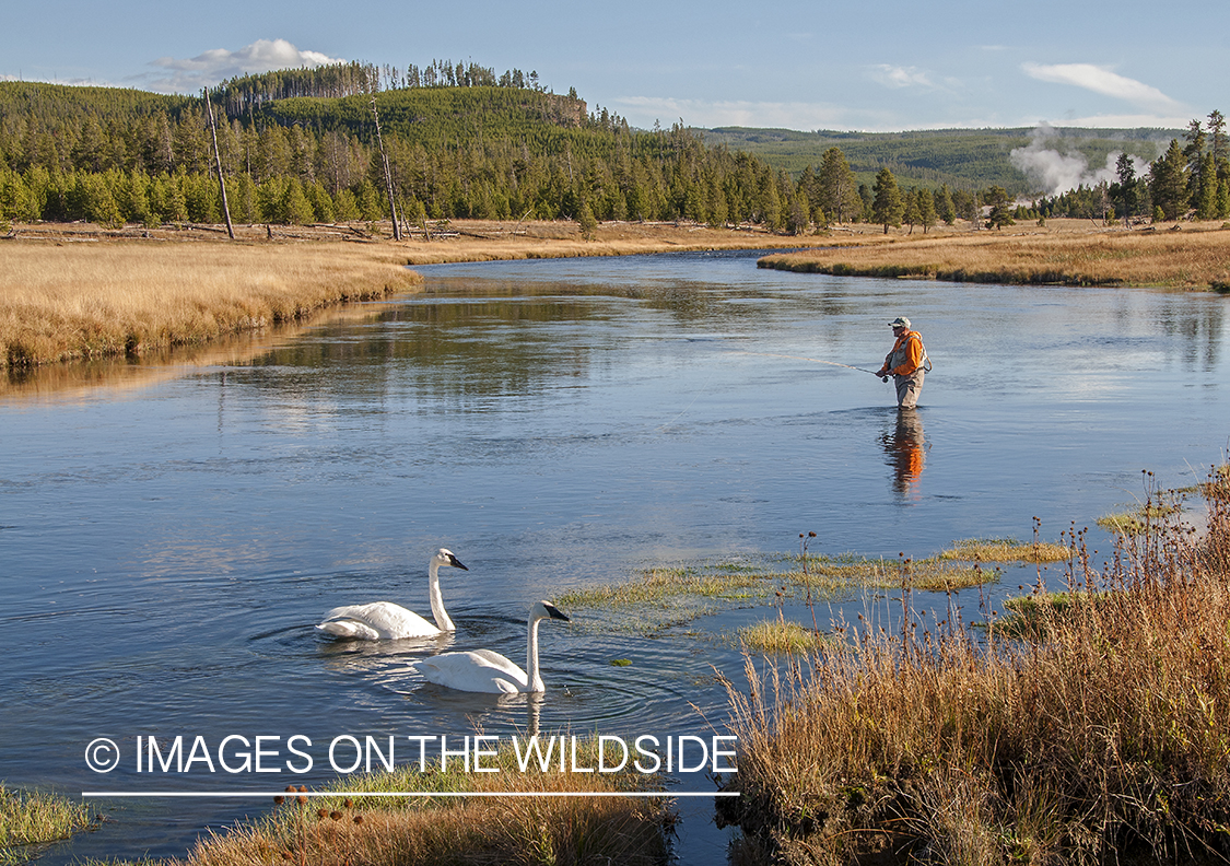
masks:
<svg viewBox="0 0 1230 866"><path fill-rule="evenodd" d="M834 221L925 231L978 223L986 208L994 225L1230 217L1219 112L1178 133L1186 146L1166 130L1049 130L1044 145L1026 129L646 132L590 111L576 91L542 89L536 73L439 60L248 75L213 89L208 106L216 157L203 95L0 81L0 230L219 223L219 162L230 215L250 224L383 220L390 197L408 224L684 219L796 234ZM1138 159L1123 156L1112 173L1116 153ZM1070 157L1101 175L1053 185L1048 197L1018 167Z"/></svg>

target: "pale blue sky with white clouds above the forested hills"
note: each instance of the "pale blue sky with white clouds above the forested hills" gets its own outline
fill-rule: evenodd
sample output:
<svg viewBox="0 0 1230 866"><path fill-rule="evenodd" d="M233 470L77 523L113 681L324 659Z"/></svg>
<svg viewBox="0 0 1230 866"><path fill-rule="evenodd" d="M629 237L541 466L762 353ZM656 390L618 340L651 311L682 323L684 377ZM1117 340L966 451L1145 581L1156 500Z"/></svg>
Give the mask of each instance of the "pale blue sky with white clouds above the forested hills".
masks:
<svg viewBox="0 0 1230 866"><path fill-rule="evenodd" d="M1186 127L1230 114L1230 5L1188 0L5 0L0 77L197 92L327 60L535 70L633 127Z"/></svg>

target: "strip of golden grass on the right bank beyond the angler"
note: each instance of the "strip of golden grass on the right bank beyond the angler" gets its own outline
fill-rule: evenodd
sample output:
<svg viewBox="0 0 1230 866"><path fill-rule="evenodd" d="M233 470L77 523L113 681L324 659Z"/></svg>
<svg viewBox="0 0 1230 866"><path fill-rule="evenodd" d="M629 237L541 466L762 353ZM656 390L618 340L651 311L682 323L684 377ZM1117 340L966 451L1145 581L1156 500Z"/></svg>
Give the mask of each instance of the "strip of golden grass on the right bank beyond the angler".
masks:
<svg viewBox="0 0 1230 866"><path fill-rule="evenodd" d="M1004 229L839 242L766 256L761 267L980 283L1230 287L1230 231L1220 224L1184 224L1178 231Z"/></svg>

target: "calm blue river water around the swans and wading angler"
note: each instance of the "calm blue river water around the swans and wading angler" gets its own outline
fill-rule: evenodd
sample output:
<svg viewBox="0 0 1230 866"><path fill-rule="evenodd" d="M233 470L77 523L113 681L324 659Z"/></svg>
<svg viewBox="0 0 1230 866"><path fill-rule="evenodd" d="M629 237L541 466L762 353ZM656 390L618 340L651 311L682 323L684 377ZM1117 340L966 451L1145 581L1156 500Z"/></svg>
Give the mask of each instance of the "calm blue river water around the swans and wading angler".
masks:
<svg viewBox="0 0 1230 866"><path fill-rule="evenodd" d="M541 702L451 694L408 664L444 646L522 661L534 600L792 552L806 531L813 552L889 557L1027 539L1034 517L1057 540L1141 498L1143 469L1182 485L1225 459L1228 301L1213 295L791 274L748 253L418 269L422 294L250 359L0 402L0 779L288 781L151 779L130 757L98 775L82 759L96 737L130 755L149 736L320 743L535 720L705 733L701 712L724 717L711 665L742 665L722 635L764 611L653 637L604 611L545 624ZM909 416L850 369L878 368L898 315L935 365ZM470 567L442 572L451 641L355 646L312 629L337 604L426 614L442 545ZM108 808L112 823L48 861L182 854L266 803ZM712 861L711 806L684 808L683 862Z"/></svg>

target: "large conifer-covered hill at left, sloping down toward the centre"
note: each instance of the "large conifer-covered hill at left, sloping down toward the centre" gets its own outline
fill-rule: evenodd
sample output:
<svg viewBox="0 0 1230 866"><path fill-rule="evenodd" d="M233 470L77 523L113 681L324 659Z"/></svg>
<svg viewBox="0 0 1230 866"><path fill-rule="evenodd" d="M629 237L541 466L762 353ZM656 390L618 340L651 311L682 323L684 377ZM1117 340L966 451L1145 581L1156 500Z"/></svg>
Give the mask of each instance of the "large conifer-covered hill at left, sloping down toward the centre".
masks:
<svg viewBox="0 0 1230 866"><path fill-rule="evenodd" d="M223 82L210 102L237 221L386 217L375 112L399 213L411 223L691 219L777 229L796 194L764 160L706 146L680 127L632 130L518 70L283 70ZM202 97L0 82L0 220L216 223L220 207Z"/></svg>

